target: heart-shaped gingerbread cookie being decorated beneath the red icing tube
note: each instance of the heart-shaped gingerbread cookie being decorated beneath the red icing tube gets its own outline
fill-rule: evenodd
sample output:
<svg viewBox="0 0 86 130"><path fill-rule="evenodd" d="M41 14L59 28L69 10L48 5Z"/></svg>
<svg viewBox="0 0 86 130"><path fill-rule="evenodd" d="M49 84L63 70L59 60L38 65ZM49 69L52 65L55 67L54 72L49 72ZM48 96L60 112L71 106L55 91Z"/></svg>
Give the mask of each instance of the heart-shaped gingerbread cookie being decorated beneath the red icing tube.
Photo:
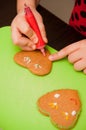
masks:
<svg viewBox="0 0 86 130"><path fill-rule="evenodd" d="M20 51L15 54L14 60L36 75L46 75L51 71L52 62L48 59L50 55L48 50L45 50L45 54L44 56L39 50Z"/></svg>

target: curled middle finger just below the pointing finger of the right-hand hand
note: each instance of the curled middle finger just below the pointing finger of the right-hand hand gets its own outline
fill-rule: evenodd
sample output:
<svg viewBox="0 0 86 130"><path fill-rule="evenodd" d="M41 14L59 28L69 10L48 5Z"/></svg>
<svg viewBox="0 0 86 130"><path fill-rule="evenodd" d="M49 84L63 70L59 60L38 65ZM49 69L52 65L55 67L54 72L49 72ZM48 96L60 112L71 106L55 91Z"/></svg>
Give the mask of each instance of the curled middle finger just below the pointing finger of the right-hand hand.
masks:
<svg viewBox="0 0 86 130"><path fill-rule="evenodd" d="M82 58L82 54L79 50L76 50L75 52L69 54L68 61L70 63L75 63L76 61L80 60Z"/></svg>

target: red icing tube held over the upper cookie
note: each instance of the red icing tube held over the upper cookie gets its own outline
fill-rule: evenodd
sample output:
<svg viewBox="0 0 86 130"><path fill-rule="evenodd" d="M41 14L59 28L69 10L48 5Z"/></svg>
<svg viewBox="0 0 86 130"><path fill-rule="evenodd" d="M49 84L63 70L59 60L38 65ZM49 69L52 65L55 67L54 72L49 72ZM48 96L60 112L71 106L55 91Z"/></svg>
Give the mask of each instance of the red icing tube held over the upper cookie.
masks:
<svg viewBox="0 0 86 130"><path fill-rule="evenodd" d="M37 43L36 48L40 49L41 52L43 53L43 55L45 55L45 50L44 50L45 42L42 39L38 24L36 22L36 19L31 11L31 9L29 7L27 7L26 5L25 5L25 18L26 18L27 22L30 24L31 28L35 31L35 33L38 37L38 43Z"/></svg>

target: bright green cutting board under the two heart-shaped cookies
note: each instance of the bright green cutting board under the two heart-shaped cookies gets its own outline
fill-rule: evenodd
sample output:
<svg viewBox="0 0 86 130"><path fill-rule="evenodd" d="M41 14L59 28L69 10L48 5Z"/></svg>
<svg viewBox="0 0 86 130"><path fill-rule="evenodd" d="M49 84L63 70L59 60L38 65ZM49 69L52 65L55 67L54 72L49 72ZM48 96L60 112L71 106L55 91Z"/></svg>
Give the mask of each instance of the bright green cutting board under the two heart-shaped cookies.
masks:
<svg viewBox="0 0 86 130"><path fill-rule="evenodd" d="M18 51L12 43L10 27L1 28L0 130L58 130L49 117L39 113L36 102L43 94L63 88L78 90L82 112L73 130L86 130L86 75L76 72L67 59L53 62L52 71L46 76L33 75L14 62Z"/></svg>

